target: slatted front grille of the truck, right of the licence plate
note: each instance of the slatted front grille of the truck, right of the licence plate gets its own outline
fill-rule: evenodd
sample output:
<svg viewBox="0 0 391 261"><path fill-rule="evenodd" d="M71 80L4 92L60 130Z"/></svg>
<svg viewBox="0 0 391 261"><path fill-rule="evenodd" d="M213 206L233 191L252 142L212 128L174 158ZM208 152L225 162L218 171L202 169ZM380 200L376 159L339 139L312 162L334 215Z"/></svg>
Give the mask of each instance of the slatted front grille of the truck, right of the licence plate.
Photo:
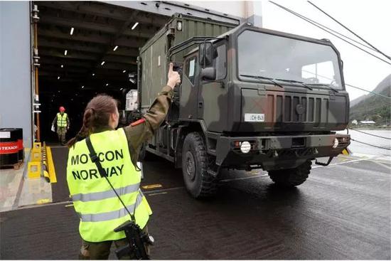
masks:
<svg viewBox="0 0 391 261"><path fill-rule="evenodd" d="M269 108L274 108L273 122L328 122L328 97L267 95Z"/></svg>

